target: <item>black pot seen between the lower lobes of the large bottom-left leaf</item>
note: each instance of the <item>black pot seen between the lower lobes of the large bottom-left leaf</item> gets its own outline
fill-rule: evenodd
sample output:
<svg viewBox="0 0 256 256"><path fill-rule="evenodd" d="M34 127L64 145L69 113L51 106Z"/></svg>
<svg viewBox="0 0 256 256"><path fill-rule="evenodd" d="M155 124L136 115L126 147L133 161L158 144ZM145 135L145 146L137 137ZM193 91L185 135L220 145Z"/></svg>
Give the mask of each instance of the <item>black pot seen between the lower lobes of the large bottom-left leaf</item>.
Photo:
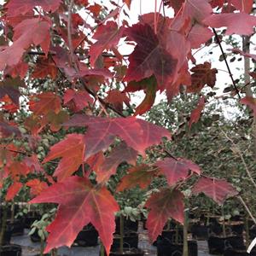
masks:
<svg viewBox="0 0 256 256"><path fill-rule="evenodd" d="M98 244L98 236L97 230L94 226L89 224L79 232L73 245L78 245L80 247L95 247Z"/></svg>

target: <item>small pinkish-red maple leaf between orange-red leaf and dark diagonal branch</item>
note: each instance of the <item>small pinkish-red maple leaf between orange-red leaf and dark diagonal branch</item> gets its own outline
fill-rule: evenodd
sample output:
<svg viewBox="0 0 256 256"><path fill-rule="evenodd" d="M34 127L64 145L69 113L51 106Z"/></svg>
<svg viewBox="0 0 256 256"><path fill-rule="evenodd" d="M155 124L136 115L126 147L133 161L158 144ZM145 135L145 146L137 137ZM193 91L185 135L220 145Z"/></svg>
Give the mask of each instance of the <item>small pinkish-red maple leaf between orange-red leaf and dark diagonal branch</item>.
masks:
<svg viewBox="0 0 256 256"><path fill-rule="evenodd" d="M74 112L79 112L85 107L89 106L89 103L92 103L93 100L85 90L73 90L67 89L65 91L64 105L67 105L69 108L72 108ZM74 108L73 108L74 105Z"/></svg>

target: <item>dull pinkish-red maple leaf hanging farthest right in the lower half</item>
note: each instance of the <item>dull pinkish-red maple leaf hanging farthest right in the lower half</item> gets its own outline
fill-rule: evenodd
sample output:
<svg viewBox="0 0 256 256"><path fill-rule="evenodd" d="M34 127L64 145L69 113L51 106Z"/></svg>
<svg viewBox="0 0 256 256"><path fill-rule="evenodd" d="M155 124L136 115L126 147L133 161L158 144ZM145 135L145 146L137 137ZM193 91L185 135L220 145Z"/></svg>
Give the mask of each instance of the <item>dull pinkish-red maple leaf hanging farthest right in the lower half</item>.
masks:
<svg viewBox="0 0 256 256"><path fill-rule="evenodd" d="M222 205L226 198L238 194L236 189L224 179L211 177L201 177L197 183L195 183L193 193L197 195L201 192L212 198L212 200L216 201L219 205Z"/></svg>

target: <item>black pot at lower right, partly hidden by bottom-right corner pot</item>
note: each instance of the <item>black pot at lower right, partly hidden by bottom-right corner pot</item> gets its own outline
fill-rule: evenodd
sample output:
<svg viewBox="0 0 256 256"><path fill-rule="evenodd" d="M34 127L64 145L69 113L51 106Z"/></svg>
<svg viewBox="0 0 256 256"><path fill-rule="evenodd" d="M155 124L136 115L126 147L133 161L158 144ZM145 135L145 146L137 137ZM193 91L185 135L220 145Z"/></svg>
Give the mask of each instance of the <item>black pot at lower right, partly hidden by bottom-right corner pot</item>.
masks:
<svg viewBox="0 0 256 256"><path fill-rule="evenodd" d="M210 236L208 247L210 254L223 254L228 248L243 250L245 246L242 236Z"/></svg>

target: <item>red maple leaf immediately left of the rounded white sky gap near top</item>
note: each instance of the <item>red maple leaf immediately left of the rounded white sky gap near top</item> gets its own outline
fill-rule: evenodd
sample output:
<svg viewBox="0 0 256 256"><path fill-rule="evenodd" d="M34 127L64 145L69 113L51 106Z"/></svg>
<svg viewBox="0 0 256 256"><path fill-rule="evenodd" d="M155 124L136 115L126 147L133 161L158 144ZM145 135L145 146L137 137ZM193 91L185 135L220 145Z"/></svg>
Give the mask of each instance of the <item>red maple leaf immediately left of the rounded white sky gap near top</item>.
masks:
<svg viewBox="0 0 256 256"><path fill-rule="evenodd" d="M90 46L90 64L94 67L96 59L102 54L104 49L115 48L119 43L119 39L123 36L124 27L120 28L116 22L108 21L106 25L101 25L97 28L93 39L96 39L96 43Z"/></svg>

